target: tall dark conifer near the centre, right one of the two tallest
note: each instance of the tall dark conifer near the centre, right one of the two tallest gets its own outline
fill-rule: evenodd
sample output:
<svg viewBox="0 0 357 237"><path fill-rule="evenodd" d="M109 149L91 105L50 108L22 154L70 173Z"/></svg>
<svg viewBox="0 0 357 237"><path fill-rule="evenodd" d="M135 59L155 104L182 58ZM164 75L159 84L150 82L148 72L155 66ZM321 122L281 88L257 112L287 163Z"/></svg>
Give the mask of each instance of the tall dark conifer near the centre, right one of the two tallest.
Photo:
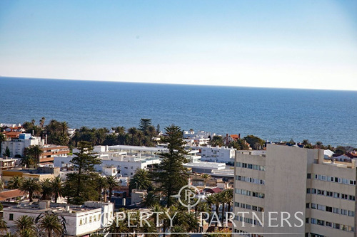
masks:
<svg viewBox="0 0 357 237"><path fill-rule="evenodd" d="M178 194L182 186L185 186L188 181L188 170L183 167L183 163L187 163L181 127L171 125L166 127L166 137L163 142L168 144L168 152L161 153L161 163L158 165L158 172L155 172L156 181L159 184L159 189L166 196L167 206L171 206L173 201L171 196Z"/></svg>

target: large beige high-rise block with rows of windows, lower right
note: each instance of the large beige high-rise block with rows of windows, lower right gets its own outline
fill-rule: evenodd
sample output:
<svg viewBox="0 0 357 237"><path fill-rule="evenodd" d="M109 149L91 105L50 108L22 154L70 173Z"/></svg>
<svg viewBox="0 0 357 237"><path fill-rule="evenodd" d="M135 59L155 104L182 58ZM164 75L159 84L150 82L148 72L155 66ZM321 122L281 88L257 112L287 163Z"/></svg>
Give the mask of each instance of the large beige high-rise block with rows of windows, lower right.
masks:
<svg viewBox="0 0 357 237"><path fill-rule="evenodd" d="M236 216L233 232L356 236L356 160L323 158L322 149L276 144L260 154L236 151L234 213L247 213Z"/></svg>

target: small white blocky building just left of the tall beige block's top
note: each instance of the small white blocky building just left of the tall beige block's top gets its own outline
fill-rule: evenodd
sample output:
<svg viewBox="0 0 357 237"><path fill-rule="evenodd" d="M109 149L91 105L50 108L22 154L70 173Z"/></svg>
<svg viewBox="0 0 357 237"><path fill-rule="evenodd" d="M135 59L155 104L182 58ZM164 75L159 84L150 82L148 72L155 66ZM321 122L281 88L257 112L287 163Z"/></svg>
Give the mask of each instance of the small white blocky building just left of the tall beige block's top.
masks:
<svg viewBox="0 0 357 237"><path fill-rule="evenodd" d="M233 164L236 156L236 148L233 147L190 147L191 149L198 149L203 162L223 162L226 164Z"/></svg>

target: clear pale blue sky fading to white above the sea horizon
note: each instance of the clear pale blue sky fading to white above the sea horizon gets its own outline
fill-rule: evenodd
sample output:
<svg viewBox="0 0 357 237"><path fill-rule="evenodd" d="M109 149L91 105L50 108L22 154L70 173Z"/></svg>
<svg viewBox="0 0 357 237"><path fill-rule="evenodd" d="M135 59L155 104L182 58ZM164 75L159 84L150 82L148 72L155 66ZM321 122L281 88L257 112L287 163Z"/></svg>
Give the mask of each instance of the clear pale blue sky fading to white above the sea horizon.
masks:
<svg viewBox="0 0 357 237"><path fill-rule="evenodd" d="M357 1L0 1L0 75L357 90Z"/></svg>

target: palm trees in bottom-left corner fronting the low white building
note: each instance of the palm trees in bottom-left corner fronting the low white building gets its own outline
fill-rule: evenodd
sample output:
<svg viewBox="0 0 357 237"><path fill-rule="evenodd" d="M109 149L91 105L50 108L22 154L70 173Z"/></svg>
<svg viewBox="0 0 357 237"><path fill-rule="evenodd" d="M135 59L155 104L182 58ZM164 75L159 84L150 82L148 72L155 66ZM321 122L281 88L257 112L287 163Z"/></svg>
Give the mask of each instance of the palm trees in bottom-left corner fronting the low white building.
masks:
<svg viewBox="0 0 357 237"><path fill-rule="evenodd" d="M1 236L19 236L19 237L36 237L45 234L46 236L62 236L63 226L59 216L56 214L46 213L39 220L34 220L31 216L20 216L15 221L15 233L13 235L7 232L6 221L0 219Z"/></svg>

